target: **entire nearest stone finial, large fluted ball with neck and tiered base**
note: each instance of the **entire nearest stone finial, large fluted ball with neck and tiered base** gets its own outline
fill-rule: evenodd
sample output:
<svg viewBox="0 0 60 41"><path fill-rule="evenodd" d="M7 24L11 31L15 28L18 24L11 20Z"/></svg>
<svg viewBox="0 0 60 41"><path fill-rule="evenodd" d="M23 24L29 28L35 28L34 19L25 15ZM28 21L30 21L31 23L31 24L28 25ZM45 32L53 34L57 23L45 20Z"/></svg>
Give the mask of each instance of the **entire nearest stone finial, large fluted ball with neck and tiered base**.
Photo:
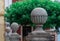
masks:
<svg viewBox="0 0 60 41"><path fill-rule="evenodd" d="M31 32L27 37L27 41L53 41L51 35L45 32L42 27L47 20L47 12L44 8L35 8L31 12L31 20L35 23L36 29Z"/></svg>

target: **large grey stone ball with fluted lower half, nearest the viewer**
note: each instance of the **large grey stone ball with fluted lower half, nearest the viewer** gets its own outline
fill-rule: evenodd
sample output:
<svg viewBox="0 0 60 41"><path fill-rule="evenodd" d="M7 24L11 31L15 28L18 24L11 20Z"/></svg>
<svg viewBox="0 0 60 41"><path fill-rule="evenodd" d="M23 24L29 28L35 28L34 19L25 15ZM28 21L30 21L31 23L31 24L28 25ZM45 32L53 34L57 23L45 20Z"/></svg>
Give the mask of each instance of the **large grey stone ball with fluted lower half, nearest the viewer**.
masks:
<svg viewBox="0 0 60 41"><path fill-rule="evenodd" d="M35 24L44 24L47 20L47 12L44 8L35 8L31 12L31 20Z"/></svg>

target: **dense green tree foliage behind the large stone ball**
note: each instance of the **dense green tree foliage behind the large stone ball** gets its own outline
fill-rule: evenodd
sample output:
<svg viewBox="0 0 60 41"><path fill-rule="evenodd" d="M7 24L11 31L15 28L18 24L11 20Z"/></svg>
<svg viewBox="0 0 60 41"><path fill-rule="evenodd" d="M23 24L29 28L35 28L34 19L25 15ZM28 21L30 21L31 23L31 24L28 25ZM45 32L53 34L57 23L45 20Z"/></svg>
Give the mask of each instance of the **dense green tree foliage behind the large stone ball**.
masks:
<svg viewBox="0 0 60 41"><path fill-rule="evenodd" d="M9 8L6 8L5 17L10 23L17 22L22 25L33 24L30 14L36 7L42 7L48 13L48 19L43 26L44 28L60 26L60 3L50 0L24 0L15 2Z"/></svg>

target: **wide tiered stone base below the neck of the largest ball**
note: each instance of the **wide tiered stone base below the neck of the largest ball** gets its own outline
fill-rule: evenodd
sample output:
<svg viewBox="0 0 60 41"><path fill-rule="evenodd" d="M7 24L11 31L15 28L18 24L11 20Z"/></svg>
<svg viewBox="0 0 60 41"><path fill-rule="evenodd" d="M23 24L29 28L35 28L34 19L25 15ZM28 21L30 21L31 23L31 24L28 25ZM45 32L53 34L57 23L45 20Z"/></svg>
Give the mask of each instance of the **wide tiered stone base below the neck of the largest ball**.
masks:
<svg viewBox="0 0 60 41"><path fill-rule="evenodd" d="M40 30L37 29L31 32L27 37L27 41L52 41L51 35L48 32L43 31L41 28Z"/></svg>

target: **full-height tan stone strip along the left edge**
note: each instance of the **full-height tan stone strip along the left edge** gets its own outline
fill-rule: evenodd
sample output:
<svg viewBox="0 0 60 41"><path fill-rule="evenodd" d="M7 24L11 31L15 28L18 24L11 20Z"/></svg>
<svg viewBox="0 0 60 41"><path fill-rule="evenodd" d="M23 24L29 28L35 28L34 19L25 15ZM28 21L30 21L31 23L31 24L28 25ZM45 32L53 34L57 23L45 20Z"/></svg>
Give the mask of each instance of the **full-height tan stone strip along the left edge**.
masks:
<svg viewBox="0 0 60 41"><path fill-rule="evenodd" d="M0 41L4 41L4 0L0 0Z"/></svg>

